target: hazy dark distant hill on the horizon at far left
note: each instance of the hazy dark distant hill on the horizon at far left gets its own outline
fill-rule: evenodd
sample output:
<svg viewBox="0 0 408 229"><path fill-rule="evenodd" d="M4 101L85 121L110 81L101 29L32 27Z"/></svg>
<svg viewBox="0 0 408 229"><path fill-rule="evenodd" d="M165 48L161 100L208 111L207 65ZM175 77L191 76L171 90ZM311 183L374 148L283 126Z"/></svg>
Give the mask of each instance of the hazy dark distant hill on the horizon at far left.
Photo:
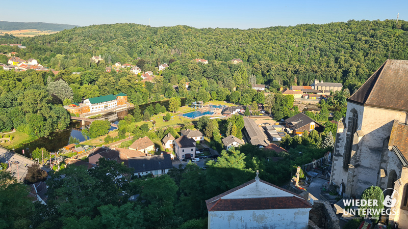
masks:
<svg viewBox="0 0 408 229"><path fill-rule="evenodd" d="M44 22L10 22L10 21L0 21L0 30L52 30L52 31L63 31L69 30L73 27L80 27L79 25L71 24L53 24Z"/></svg>

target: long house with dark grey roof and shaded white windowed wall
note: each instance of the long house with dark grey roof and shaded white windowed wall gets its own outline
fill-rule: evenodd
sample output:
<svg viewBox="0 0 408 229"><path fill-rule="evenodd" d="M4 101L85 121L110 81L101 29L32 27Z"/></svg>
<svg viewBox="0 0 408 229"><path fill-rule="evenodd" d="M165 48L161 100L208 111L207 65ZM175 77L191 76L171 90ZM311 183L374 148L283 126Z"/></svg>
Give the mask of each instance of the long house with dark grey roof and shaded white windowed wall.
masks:
<svg viewBox="0 0 408 229"><path fill-rule="evenodd" d="M173 167L170 154L135 157L129 159L129 167L135 169L134 176L145 176L148 174L160 176L167 174Z"/></svg>

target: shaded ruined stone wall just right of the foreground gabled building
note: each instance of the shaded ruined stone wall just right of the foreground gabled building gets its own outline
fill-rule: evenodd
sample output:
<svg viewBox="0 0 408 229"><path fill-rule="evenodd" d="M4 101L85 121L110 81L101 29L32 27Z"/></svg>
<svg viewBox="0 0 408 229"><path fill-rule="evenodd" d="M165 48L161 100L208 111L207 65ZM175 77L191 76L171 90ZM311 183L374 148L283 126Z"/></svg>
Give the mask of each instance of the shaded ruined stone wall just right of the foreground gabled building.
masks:
<svg viewBox="0 0 408 229"><path fill-rule="evenodd" d="M314 224L309 224L312 228L340 229L339 218L326 201L315 201L309 212L309 220Z"/></svg>

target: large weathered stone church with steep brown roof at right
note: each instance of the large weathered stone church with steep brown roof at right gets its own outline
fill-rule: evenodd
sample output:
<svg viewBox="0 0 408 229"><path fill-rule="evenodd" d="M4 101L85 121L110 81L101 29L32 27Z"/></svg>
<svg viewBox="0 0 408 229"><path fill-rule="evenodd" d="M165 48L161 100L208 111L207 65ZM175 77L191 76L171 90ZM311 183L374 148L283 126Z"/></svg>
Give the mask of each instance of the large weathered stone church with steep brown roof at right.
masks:
<svg viewBox="0 0 408 229"><path fill-rule="evenodd" d="M330 181L345 197L371 185L395 189L390 222L408 228L408 61L387 60L347 102Z"/></svg>

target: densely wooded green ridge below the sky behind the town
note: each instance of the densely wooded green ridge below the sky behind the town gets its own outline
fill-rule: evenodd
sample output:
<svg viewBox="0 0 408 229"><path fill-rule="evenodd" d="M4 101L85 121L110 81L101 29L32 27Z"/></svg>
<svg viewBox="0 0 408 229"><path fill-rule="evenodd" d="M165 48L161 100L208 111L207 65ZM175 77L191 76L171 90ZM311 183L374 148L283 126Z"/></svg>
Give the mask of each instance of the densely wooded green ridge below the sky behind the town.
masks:
<svg viewBox="0 0 408 229"><path fill-rule="evenodd" d="M92 25L50 36L27 38L25 52L60 70L90 66L81 60L101 55L107 63L135 60L157 66L170 59L208 59L206 74L217 61L240 58L257 82L308 84L314 78L343 82L353 90L388 57L408 59L408 22L348 21L238 30L189 26L149 27L138 24ZM56 54L63 54L53 62ZM86 56L87 58L83 58ZM61 63L64 65L61 67ZM185 66L187 68L187 66ZM214 68L214 67L213 67ZM223 74L223 73L221 73ZM183 76L183 72L177 73ZM226 75L226 78L230 76Z"/></svg>

